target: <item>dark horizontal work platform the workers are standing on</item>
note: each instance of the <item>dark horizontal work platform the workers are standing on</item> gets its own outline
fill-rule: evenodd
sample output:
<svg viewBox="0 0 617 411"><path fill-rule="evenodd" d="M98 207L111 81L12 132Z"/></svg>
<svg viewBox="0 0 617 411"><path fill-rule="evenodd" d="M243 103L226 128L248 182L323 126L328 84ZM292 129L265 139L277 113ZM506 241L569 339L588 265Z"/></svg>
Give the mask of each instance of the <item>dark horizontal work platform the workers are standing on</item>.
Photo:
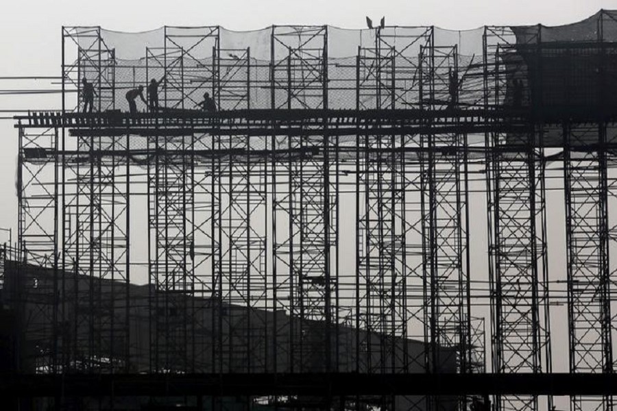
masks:
<svg viewBox="0 0 617 411"><path fill-rule="evenodd" d="M588 108L587 108L588 109ZM273 125L298 123L316 125L411 125L411 124L459 124L492 123L511 125L537 125L541 123L613 123L616 112L568 108L538 112L529 108L445 108L383 109L383 110L322 110L322 109L252 109L226 110L208 113L199 110L162 110L156 113L130 114L119 111L99 113L29 112L14 116L15 127L242 127L243 125Z"/></svg>

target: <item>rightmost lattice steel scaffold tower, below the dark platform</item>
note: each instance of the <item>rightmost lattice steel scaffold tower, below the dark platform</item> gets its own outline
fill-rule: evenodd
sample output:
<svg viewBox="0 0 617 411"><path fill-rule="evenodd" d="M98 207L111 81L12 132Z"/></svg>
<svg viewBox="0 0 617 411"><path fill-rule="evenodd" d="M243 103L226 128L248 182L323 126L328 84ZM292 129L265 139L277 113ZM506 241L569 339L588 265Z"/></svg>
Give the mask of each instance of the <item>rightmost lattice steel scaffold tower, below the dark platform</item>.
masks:
<svg viewBox="0 0 617 411"><path fill-rule="evenodd" d="M612 372L607 153L585 139L605 125L564 123L570 371ZM605 137L603 137L605 140ZM612 409L612 397L571 397L573 410Z"/></svg>

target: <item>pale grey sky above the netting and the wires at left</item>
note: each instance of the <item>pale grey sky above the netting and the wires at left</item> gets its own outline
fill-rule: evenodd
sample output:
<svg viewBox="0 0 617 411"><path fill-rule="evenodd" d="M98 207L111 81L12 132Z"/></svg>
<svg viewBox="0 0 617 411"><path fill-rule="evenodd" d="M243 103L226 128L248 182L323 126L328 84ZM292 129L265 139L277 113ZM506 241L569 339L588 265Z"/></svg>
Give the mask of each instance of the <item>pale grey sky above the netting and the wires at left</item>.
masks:
<svg viewBox="0 0 617 411"><path fill-rule="evenodd" d="M260 29L271 24L330 24L363 28L364 16L389 25L559 25L579 21L617 0L36 0L3 1L0 74L57 73L60 27L100 25L143 31L162 25L221 25Z"/></svg>

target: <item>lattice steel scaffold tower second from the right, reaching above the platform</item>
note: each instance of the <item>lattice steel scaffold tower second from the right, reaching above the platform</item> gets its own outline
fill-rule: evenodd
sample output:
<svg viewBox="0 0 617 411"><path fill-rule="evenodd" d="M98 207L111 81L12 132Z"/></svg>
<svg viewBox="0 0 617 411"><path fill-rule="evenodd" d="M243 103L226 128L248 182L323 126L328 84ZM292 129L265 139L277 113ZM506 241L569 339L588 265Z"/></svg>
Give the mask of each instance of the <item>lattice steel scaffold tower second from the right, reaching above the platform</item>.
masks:
<svg viewBox="0 0 617 411"><path fill-rule="evenodd" d="M509 27L485 29L487 106L511 104L508 82L525 75L525 62L509 59L513 36ZM532 42L540 41L539 34L531 38ZM518 134L489 132L485 142L495 373L551 371L546 160L541 142L537 144L542 125L527 127L527 132ZM550 407L550 397L548 402ZM496 406L500 410L537 410L538 401L533 396L504 396L496 398Z"/></svg>

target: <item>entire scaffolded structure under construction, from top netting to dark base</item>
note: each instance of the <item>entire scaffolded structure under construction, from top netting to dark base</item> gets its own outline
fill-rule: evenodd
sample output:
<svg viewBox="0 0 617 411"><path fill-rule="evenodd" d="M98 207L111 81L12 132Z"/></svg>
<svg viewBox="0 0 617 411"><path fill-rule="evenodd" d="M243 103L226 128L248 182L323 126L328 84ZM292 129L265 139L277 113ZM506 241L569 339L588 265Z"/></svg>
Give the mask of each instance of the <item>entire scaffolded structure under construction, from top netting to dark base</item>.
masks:
<svg viewBox="0 0 617 411"><path fill-rule="evenodd" d="M616 121L617 12L63 27L62 106L16 117L7 407L612 410Z"/></svg>

